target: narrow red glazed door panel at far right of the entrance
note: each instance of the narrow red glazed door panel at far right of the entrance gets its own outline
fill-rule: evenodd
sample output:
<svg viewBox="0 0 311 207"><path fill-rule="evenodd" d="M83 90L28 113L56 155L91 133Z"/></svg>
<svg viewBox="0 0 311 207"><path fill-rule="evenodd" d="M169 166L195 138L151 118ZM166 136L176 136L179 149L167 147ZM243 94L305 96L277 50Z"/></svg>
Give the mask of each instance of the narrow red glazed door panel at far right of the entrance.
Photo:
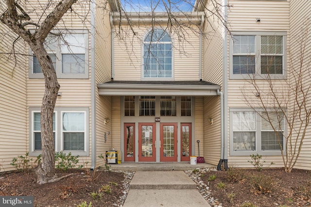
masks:
<svg viewBox="0 0 311 207"><path fill-rule="evenodd" d="M181 135L181 161L190 161L191 156L191 124L180 124Z"/></svg>

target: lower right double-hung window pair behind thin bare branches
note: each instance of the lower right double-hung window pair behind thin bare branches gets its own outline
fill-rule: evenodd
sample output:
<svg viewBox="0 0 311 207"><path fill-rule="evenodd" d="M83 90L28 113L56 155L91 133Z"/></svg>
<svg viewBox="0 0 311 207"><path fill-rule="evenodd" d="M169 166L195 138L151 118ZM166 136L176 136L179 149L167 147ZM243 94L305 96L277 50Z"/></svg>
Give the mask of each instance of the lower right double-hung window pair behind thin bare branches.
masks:
<svg viewBox="0 0 311 207"><path fill-rule="evenodd" d="M280 155L284 118L275 111L230 109L230 155Z"/></svg>

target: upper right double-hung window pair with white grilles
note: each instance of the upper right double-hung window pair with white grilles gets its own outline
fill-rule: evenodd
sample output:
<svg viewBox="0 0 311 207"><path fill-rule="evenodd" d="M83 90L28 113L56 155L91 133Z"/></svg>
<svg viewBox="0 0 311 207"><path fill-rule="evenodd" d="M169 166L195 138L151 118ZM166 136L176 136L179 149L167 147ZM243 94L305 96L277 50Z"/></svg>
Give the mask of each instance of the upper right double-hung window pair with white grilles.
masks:
<svg viewBox="0 0 311 207"><path fill-rule="evenodd" d="M230 79L286 78L286 32L235 32Z"/></svg>

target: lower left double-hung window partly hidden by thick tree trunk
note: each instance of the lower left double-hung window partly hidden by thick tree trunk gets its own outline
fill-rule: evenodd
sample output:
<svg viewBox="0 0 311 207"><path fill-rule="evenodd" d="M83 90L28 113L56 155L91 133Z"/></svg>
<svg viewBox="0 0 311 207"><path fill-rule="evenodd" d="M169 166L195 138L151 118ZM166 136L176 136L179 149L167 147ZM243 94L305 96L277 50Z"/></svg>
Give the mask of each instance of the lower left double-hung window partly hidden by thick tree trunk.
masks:
<svg viewBox="0 0 311 207"><path fill-rule="evenodd" d="M41 154L40 108L30 108L30 155ZM53 138L55 151L71 152L72 155L87 156L89 152L88 108L55 107L53 114Z"/></svg>

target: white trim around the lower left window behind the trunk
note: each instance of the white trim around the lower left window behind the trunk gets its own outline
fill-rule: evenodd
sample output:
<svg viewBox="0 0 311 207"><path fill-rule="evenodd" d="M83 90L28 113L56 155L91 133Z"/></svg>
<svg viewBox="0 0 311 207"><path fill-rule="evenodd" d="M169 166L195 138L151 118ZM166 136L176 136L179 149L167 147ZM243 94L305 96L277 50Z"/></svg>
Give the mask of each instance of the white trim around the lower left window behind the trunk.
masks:
<svg viewBox="0 0 311 207"><path fill-rule="evenodd" d="M41 112L41 107L29 107L29 155L38 156L41 154L41 151L34 150L35 148L35 138L34 138L34 113ZM71 152L73 156L89 156L89 108L88 107L55 107L55 151L63 151L63 136L62 136L62 112L83 112L85 113L85 139L84 139L84 151L70 151L65 150L67 154ZM59 130L60 129L60 130Z"/></svg>

